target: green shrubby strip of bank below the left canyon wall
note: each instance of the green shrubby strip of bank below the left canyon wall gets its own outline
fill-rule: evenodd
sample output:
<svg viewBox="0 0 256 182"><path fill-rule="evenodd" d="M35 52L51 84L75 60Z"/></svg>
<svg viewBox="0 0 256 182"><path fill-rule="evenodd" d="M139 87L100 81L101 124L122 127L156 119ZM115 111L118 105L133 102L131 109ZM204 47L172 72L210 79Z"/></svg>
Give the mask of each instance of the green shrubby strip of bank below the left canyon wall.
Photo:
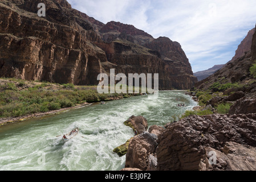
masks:
<svg viewBox="0 0 256 182"><path fill-rule="evenodd" d="M97 86L52 84L15 78L2 78L0 82L0 118L19 117L47 112L86 102L128 98L134 94L100 94Z"/></svg>

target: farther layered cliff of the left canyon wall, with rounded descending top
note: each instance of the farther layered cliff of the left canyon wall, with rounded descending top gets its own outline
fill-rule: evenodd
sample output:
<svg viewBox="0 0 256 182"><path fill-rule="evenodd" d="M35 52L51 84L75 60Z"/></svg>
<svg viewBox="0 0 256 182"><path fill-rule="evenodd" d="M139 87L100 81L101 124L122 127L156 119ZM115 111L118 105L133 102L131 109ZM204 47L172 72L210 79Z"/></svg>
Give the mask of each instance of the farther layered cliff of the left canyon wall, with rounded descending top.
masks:
<svg viewBox="0 0 256 182"><path fill-rule="evenodd" d="M107 47L112 47L112 51L106 46L99 47L107 53L109 62L125 68L124 73L134 73L134 70L135 73L159 73L159 85L162 90L192 88L197 82L179 43L165 37L154 39L144 31L120 22L109 22L100 32L101 38L111 44ZM119 51L113 47L118 47ZM122 61L118 61L119 59ZM133 63L129 59L132 59ZM145 59L153 62L141 65L140 60ZM131 67L125 67L127 63L133 67L132 70Z"/></svg>

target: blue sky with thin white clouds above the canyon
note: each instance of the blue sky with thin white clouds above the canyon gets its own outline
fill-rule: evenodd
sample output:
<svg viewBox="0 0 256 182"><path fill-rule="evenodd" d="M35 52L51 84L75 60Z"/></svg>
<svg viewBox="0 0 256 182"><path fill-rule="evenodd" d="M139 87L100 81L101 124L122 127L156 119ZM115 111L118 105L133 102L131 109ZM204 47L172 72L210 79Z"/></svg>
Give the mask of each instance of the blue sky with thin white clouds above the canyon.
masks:
<svg viewBox="0 0 256 182"><path fill-rule="evenodd" d="M67 0L100 22L132 24L181 44L193 72L226 64L256 24L255 0Z"/></svg>

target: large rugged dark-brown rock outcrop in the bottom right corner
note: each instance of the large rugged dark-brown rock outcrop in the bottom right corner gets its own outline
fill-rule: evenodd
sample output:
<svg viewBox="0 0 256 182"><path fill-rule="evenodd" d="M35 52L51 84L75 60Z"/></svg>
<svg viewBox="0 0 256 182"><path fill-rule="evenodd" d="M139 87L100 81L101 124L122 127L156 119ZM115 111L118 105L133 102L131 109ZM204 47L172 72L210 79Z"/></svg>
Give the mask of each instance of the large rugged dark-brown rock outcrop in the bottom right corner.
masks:
<svg viewBox="0 0 256 182"><path fill-rule="evenodd" d="M255 130L256 114L182 119L159 137L157 170L255 170ZM217 154L211 166L210 151Z"/></svg>

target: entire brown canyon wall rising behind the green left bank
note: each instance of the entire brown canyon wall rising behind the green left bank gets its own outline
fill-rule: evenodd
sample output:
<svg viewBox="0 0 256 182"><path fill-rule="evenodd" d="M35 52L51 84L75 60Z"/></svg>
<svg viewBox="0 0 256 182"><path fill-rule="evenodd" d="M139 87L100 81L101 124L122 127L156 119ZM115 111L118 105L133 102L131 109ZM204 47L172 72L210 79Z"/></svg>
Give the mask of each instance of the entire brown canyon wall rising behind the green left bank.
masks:
<svg viewBox="0 0 256 182"><path fill-rule="evenodd" d="M46 5L39 17L38 4ZM97 75L159 73L159 89L197 82L181 45L120 22L101 23L66 0L0 2L0 77L97 85Z"/></svg>

